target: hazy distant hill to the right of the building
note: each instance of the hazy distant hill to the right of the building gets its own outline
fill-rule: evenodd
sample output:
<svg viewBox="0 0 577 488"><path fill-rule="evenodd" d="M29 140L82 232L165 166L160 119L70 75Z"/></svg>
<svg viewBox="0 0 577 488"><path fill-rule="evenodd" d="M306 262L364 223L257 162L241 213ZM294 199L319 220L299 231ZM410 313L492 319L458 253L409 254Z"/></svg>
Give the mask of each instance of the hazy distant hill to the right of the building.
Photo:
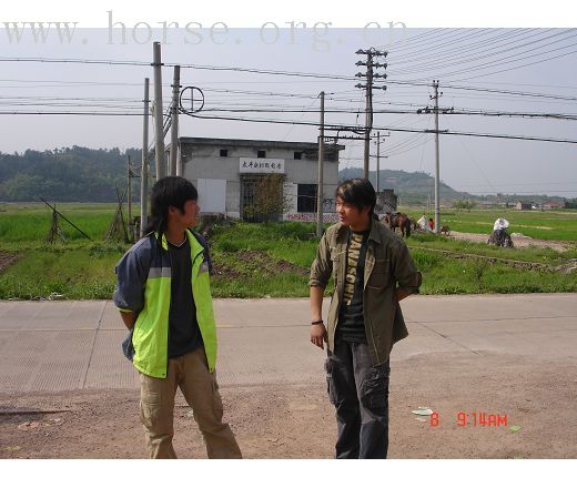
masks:
<svg viewBox="0 0 577 488"><path fill-rule="evenodd" d="M361 167L347 167L338 172L338 180L363 177ZM368 172L371 183L376 187L376 171ZM406 171L381 170L378 172L378 186L381 190L393 189L401 197L401 204L425 204L427 199L435 200L435 179L424 172L407 173ZM449 185L441 182L439 193L442 203L456 200L475 200L478 196L465 192L457 192Z"/></svg>

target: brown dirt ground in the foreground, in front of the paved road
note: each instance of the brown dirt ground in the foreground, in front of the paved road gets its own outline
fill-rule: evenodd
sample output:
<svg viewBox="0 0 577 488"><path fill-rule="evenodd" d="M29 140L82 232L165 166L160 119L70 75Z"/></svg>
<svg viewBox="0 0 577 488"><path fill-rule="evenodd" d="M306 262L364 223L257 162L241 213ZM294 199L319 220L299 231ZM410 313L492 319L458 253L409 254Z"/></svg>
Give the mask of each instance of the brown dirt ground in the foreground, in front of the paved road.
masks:
<svg viewBox="0 0 577 488"><path fill-rule="evenodd" d="M475 360L455 353L393 363L389 457L575 458L575 366L488 353ZM245 458L332 457L336 428L321 367L318 378L310 385L221 388L225 418ZM206 457L181 396L176 404L176 453ZM417 407L437 411L439 425L417 421ZM34 408L70 411L1 414ZM139 393L126 389L0 395L0 458L142 458L138 409ZM457 426L459 411L507 415L507 426L475 426L473 418Z"/></svg>

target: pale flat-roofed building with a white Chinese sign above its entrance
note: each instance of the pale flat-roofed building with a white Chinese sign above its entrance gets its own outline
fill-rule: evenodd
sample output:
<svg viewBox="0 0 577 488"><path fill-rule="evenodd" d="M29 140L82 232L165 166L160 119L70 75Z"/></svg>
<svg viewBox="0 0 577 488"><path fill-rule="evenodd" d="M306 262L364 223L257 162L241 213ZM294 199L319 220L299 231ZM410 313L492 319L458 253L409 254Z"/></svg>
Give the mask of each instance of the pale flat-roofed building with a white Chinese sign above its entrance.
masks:
<svg viewBox="0 0 577 488"><path fill-rule="evenodd" d="M180 138L181 174L199 190L202 213L245 218L255 184L267 174L283 176L290 210L287 221L316 221L318 145L312 142ZM325 144L323 167L324 220L336 222L334 192L343 145Z"/></svg>

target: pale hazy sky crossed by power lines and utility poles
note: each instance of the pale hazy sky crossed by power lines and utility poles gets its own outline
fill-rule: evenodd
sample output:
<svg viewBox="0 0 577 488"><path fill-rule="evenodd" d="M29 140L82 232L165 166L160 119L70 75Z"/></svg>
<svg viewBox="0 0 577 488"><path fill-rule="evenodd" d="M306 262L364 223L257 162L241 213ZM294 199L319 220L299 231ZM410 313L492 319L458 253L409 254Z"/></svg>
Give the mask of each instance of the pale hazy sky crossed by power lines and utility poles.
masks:
<svg viewBox="0 0 577 488"><path fill-rule="evenodd" d="M112 21L121 22L123 19L113 16ZM193 26L189 31L171 28L163 39L161 30L149 35L146 29L134 31L133 23L125 23L125 43L121 29L113 32L109 29L81 29L73 33L70 43L62 43L53 27L45 42L34 42L30 29L23 31L20 42L14 40L12 32L10 42L6 27L0 23L0 112L140 113L144 77L151 79L151 94L153 90L152 68L149 65L17 62L7 59L148 63L152 61L152 41L159 40L166 41L162 47L165 63L340 77L354 77L364 71L364 67L355 65L356 61L364 59L355 54L356 50L368 47L388 50L387 58L382 60L388 63L388 68L379 70L388 73L387 90L375 90L374 109L411 113L375 113L375 126L433 129L433 114L419 115L416 110L433 105L429 95L433 94L431 82L434 79L441 82L442 108L577 118L576 29L403 30L396 27L391 30L383 23L381 29L372 30L325 30L317 26L316 32L301 29L292 32L290 29L230 29L222 32L221 26L211 39L207 30L199 32ZM170 101L171 82L172 68L165 67L164 109ZM183 68L181 75L183 85L194 84L204 90L205 115L316 123L320 108L316 96L325 91L327 111L353 112L326 113L325 122L347 125L364 123L364 91L354 87L357 82L198 68ZM232 108L253 112L222 112ZM305 109L312 112L254 112L265 109ZM577 140L577 121L573 120L447 114L439 116L439 126L449 131ZM0 128L0 151L7 153L74 144L121 149L142 144L142 116L1 114ZM151 125L151 142L152 134ZM180 135L314 142L317 129L181 115ZM340 143L346 145L341 153L342 167L362 166L362 141L342 140ZM381 160L382 169L434 173L432 134L391 131L381 145L381 153L387 156ZM373 160L372 169L375 164ZM470 193L548 193L573 197L577 196L577 144L442 135L441 176L454 189Z"/></svg>

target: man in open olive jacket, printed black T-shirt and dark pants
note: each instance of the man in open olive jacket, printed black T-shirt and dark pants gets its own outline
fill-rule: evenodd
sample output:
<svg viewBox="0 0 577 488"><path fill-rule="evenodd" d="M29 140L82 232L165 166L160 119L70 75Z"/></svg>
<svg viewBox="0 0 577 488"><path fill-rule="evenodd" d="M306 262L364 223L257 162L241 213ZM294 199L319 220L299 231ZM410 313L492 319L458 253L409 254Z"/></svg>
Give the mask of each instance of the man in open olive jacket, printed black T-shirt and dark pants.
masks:
<svg viewBox="0 0 577 488"><path fill-rule="evenodd" d="M368 180L336 189L340 223L323 235L311 267L311 342L324 348L336 408L336 458L386 458L393 344L408 335L398 302L418 293L421 273L403 240L374 218ZM324 289L334 274L327 324Z"/></svg>

